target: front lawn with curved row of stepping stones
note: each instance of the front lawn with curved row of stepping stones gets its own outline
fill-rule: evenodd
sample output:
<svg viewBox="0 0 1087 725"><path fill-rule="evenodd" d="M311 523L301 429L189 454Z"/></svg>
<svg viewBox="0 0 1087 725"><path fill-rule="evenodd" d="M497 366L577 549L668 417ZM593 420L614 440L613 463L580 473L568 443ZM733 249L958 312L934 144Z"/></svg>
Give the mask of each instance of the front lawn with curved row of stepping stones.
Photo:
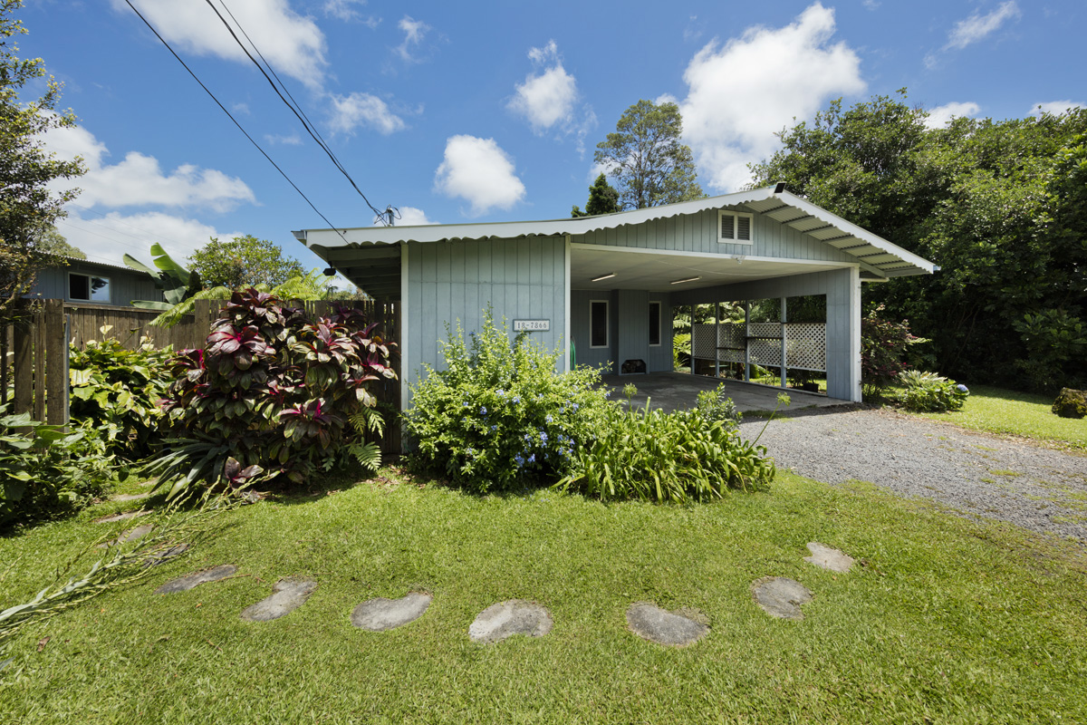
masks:
<svg viewBox="0 0 1087 725"><path fill-rule="evenodd" d="M690 507L480 498L384 473L405 483L333 480L342 490L230 512L143 583L29 626L0 674L0 722L1087 722L1079 546L787 473ZM16 562L0 609L32 598L110 507L0 539ZM815 568L812 540L863 565ZM226 562L242 576L152 593ZM301 574L320 582L304 607L239 620ZM764 575L814 592L802 622L752 602ZM363 600L412 590L434 595L421 620L350 625ZM475 615L511 598L547 605L551 634L471 642ZM642 641L624 611L646 600L698 608L712 632L684 649Z"/></svg>

